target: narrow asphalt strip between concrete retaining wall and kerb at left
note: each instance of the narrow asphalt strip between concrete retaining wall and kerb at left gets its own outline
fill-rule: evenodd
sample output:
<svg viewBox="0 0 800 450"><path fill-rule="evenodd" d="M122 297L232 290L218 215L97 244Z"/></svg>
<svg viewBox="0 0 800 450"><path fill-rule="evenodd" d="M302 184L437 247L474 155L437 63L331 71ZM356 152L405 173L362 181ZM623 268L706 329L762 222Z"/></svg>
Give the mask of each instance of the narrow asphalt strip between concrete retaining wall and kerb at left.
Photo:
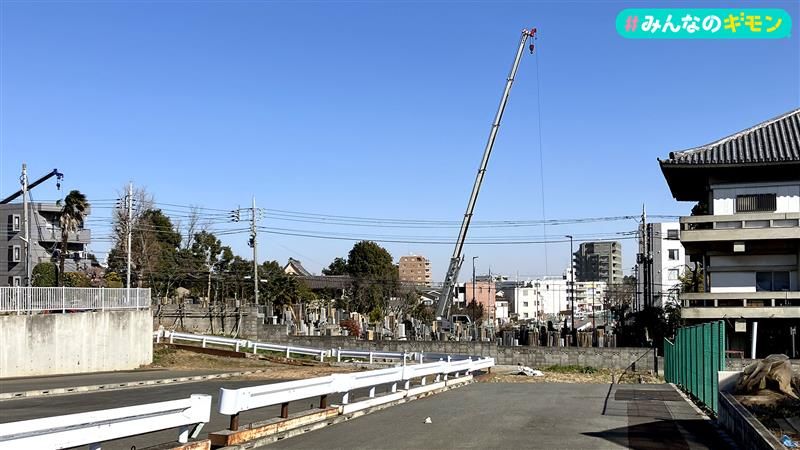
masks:
<svg viewBox="0 0 800 450"><path fill-rule="evenodd" d="M193 377L224 373L219 370L168 370L139 369L119 372L97 372L75 375L53 375L45 377L4 378L0 380L0 392L23 392L98 384L127 383L131 381L160 380L165 378Z"/></svg>

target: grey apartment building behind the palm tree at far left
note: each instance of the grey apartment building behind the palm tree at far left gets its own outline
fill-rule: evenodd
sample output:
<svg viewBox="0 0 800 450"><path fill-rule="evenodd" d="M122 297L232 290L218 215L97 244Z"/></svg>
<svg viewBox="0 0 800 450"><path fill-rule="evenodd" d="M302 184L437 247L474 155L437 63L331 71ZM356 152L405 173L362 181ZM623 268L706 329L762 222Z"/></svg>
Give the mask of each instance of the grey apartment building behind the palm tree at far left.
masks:
<svg viewBox="0 0 800 450"><path fill-rule="evenodd" d="M55 203L30 203L28 226L31 237L31 270L41 262L56 262L61 251L61 207ZM0 221L5 226L0 237L0 286L26 286L25 243L22 203L0 205ZM67 237L67 258L64 269L75 271L87 258L86 249L91 240L91 231L83 224Z"/></svg>

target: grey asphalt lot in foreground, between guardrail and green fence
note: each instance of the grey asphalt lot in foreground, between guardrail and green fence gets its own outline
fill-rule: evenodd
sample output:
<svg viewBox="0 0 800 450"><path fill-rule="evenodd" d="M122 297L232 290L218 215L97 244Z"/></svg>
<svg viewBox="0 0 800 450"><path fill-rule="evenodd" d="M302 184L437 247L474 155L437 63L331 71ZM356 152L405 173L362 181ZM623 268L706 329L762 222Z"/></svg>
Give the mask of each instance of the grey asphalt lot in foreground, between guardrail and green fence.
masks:
<svg viewBox="0 0 800 450"><path fill-rule="evenodd" d="M677 398L628 401L607 384L476 383L268 447L727 448L711 425ZM426 417L433 423L425 424Z"/></svg>

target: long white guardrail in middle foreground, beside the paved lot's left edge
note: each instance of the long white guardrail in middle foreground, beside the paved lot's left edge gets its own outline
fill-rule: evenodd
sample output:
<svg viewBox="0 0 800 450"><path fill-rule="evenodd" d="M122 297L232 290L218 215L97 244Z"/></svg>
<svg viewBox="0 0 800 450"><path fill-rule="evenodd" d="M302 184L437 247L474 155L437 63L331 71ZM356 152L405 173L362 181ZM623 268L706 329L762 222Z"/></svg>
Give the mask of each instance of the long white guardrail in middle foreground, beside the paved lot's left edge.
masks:
<svg viewBox="0 0 800 450"><path fill-rule="evenodd" d="M281 405L281 417L289 417L289 403L312 397L320 397L320 408L328 407L328 396L342 394L342 405L350 403L350 393L356 389L369 388L369 397L375 398L376 388L390 384L390 393L397 394L397 384L404 382L404 391L399 398L415 395L411 391L411 380L420 378L421 386L427 384L427 377L436 376L448 380L450 374L468 375L473 371L494 366L494 358L459 361L439 361L391 369L370 370L366 372L334 374L307 380L252 386L240 389L220 389L219 413L230 416L230 430L239 429L239 413L267 406ZM394 399L391 396L390 399Z"/></svg>

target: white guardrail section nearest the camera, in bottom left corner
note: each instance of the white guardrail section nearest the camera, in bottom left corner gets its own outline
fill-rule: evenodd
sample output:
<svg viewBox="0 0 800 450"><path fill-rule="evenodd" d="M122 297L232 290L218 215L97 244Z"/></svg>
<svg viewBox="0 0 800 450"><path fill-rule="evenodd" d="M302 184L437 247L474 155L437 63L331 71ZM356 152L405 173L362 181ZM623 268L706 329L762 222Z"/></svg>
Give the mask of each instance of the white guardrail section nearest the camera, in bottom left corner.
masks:
<svg viewBox="0 0 800 450"><path fill-rule="evenodd" d="M195 438L211 416L211 396L0 424L0 449L62 449L179 428L178 442Z"/></svg>

